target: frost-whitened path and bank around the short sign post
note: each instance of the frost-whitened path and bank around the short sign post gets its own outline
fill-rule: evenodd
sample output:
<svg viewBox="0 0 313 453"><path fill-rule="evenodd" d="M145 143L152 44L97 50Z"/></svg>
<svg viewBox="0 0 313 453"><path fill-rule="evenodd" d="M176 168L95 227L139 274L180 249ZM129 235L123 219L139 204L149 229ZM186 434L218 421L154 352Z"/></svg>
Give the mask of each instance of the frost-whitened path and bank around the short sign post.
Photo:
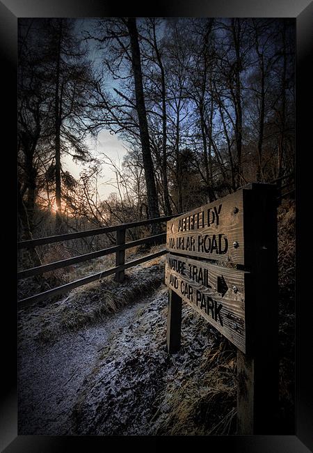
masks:
<svg viewBox="0 0 313 453"><path fill-rule="evenodd" d="M149 267L138 266L137 271L143 278L151 275ZM31 337L34 321L31 330L24 325L19 434L154 434L169 410L158 395L179 387L212 341L209 324L184 305L182 349L168 355L167 295L161 284L152 295L139 296L96 324L59 332L51 343ZM28 314L24 322L40 322L42 316L35 315Z"/></svg>

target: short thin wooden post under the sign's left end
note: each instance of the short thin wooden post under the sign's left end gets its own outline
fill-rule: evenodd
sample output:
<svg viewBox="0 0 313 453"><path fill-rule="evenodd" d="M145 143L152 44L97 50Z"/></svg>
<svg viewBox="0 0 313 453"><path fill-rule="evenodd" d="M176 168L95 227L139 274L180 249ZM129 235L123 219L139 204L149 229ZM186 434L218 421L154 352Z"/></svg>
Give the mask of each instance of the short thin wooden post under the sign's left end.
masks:
<svg viewBox="0 0 313 453"><path fill-rule="evenodd" d="M182 327L182 298L172 289L168 290L168 353L176 353L180 348Z"/></svg>

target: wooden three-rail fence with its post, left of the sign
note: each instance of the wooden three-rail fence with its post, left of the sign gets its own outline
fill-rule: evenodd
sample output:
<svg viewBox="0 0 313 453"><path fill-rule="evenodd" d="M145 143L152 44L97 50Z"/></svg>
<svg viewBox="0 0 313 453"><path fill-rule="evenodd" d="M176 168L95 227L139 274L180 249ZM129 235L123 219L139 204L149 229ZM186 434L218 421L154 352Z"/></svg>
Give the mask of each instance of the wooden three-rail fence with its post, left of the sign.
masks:
<svg viewBox="0 0 313 453"><path fill-rule="evenodd" d="M64 268L66 266L70 266L72 264L81 263L83 261L87 261L90 259L98 258L99 256L104 256L108 254L115 253L115 267L110 268L108 270L104 270L102 272L97 272L97 274L89 275L88 277L83 277L82 279L75 280L74 282L70 282L61 286L58 286L53 289L49 289L48 291L44 291L43 293L31 295L28 298L22 299L18 301L19 307L29 307L29 305L33 305L35 302L40 302L45 300L46 298L51 297L51 295L57 295L66 293L71 289L77 288L78 286L83 286L90 282L94 282L95 280L102 279L109 275L115 274L115 280L117 282L123 282L125 277L125 269L129 269L133 266L137 266L140 263L144 263L145 261L151 261L152 259L157 258L163 254L166 254L166 249L160 250L157 253L150 254L147 256L143 256L142 258L135 259L133 261L129 261L129 263L125 263L125 250L131 247L136 247L137 245L142 244L149 244L149 243L164 243L166 242L166 233L157 234L154 236L149 236L147 238L133 240L129 243L125 243L125 236L126 230L131 229L134 227L141 227L147 224L156 224L167 222L168 220L172 219L173 217L177 217L177 215L168 215L167 217L157 217L150 220L141 220L139 222L131 222L128 224L119 224L113 227L104 227L104 228L97 228L91 229L86 231L79 231L78 233L67 233L61 234L58 236L48 236L45 238L39 239L32 239L32 240L25 240L23 242L18 243L18 249L23 249L25 247L37 247L38 245L44 244L51 244L57 243L65 240L71 240L76 238L83 238L86 236L95 236L98 234L109 233L111 231L116 231L116 244L113 247L107 247L106 249L97 250L97 252L91 252L87 254L82 254L79 256L73 256L70 259L63 259L61 261L54 261L54 263L45 264L43 266L37 266L35 268L30 268L26 270L20 270L17 272L17 279L24 279L27 277L31 277L33 275L40 275L45 272L49 272L51 270L56 270L58 268Z"/></svg>

